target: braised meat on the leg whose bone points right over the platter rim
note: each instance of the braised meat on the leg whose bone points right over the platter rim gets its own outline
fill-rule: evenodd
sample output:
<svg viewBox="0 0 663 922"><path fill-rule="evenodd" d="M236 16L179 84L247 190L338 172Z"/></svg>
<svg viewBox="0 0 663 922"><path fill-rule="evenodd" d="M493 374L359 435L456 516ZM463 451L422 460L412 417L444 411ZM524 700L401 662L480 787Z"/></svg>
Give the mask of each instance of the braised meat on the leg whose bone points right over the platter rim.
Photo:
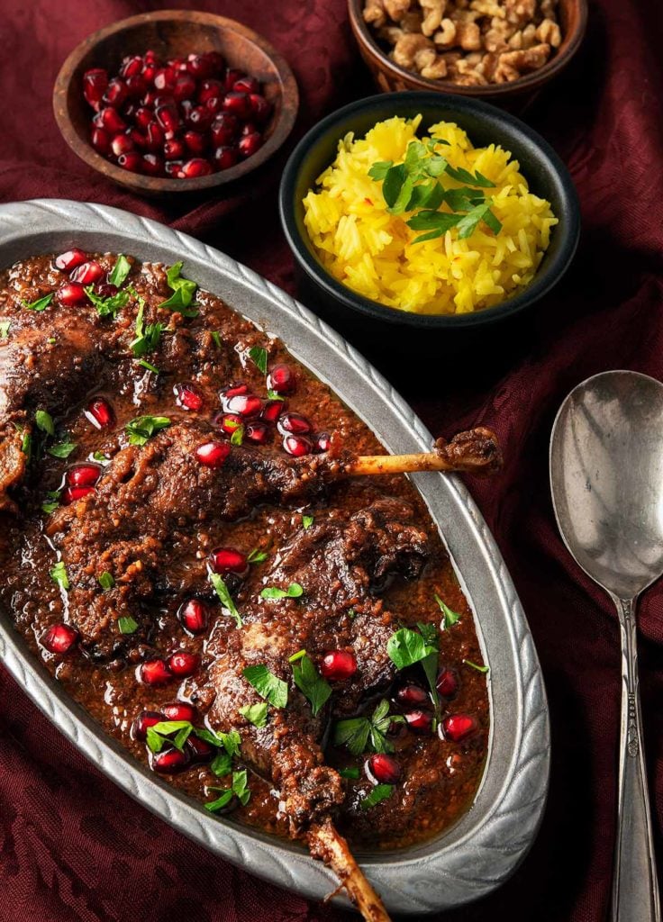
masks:
<svg viewBox="0 0 663 922"><path fill-rule="evenodd" d="M235 521L265 502L308 502L333 477L339 461L294 458L232 446L222 467L200 464L196 449L218 436L204 420L186 420L145 445L127 445L103 470L96 490L57 509L47 526L62 552L71 590L69 616L97 656L124 644L115 622L130 616L144 628L155 602L181 591L172 572L172 543L191 545L190 582L208 593L207 571L195 558L195 528ZM103 590L101 573L114 585ZM136 638L134 638L136 640Z"/></svg>

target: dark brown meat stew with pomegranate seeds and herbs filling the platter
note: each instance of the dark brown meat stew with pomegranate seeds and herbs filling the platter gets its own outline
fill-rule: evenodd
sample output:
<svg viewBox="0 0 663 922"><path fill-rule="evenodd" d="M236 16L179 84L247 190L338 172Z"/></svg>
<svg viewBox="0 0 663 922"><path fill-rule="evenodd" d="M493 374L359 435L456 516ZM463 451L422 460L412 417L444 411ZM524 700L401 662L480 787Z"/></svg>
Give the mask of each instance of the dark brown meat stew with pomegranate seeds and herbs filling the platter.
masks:
<svg viewBox="0 0 663 922"><path fill-rule="evenodd" d="M283 345L113 254L0 276L2 604L212 813L355 845L448 827L489 732L472 616L407 478Z"/></svg>

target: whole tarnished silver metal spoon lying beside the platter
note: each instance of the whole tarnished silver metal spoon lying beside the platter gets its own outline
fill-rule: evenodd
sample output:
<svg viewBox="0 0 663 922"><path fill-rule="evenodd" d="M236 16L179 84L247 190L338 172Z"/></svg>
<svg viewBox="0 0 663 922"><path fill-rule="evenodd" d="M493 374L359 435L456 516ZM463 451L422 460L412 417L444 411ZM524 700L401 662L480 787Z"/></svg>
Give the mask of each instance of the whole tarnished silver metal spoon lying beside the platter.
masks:
<svg viewBox="0 0 663 922"><path fill-rule="evenodd" d="M663 384L604 372L566 397L551 436L551 490L566 547L617 608L622 739L613 922L660 922L635 637L635 602L663 573Z"/></svg>

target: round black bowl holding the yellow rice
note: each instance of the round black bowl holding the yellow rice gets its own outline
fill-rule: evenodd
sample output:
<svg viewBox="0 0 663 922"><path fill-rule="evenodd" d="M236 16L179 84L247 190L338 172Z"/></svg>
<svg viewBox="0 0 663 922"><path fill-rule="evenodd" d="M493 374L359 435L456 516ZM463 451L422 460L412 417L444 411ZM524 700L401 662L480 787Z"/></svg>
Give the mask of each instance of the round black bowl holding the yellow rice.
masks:
<svg viewBox="0 0 663 922"><path fill-rule="evenodd" d="M527 288L496 307L453 315L418 314L385 307L346 288L333 278L314 251L306 228L302 199L314 188L317 177L335 160L338 140L349 131L362 137L377 122L394 115L423 116L422 128L440 121L455 122L468 132L475 147L499 143L519 161L530 190L548 199L559 224L551 231L551 244L539 271ZM350 103L332 112L305 135L290 156L280 184L279 209L283 230L292 252L314 281L315 295L332 324L354 314L373 326L393 325L426 330L452 330L492 325L530 308L562 278L573 259L580 235L580 207L574 183L562 160L535 131L514 115L480 100L437 92L381 94ZM359 312L362 317L357 316Z"/></svg>

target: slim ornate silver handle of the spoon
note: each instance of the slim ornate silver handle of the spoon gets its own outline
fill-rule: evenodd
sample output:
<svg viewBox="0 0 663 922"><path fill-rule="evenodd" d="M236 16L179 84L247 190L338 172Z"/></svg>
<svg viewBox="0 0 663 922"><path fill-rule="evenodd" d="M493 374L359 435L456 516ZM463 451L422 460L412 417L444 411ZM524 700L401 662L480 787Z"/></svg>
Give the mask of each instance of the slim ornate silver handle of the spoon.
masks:
<svg viewBox="0 0 663 922"><path fill-rule="evenodd" d="M660 922L643 747L635 599L615 599L622 634L622 737L612 922Z"/></svg>

